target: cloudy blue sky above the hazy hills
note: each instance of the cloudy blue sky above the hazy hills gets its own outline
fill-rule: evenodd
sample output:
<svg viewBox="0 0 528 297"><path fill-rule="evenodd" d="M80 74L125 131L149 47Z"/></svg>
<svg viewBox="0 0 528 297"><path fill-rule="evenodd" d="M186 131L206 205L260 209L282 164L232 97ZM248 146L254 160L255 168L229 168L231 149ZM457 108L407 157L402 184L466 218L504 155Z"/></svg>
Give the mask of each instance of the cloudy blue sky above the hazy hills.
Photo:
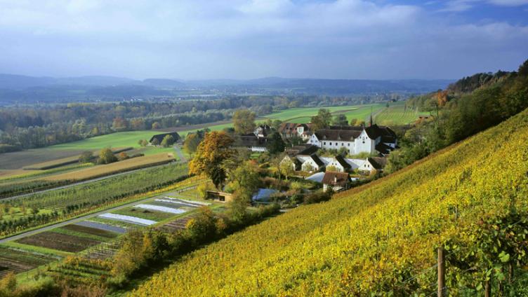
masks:
<svg viewBox="0 0 528 297"><path fill-rule="evenodd" d="M0 73L435 79L516 70L528 0L0 0Z"/></svg>

